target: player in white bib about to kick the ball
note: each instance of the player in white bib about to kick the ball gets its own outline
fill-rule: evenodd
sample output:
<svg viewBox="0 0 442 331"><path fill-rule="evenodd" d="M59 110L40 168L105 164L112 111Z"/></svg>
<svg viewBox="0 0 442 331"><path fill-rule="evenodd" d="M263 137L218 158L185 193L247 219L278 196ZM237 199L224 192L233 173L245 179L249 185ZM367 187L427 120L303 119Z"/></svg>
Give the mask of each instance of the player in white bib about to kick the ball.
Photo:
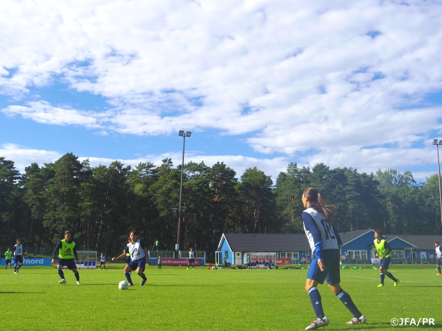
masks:
<svg viewBox="0 0 442 331"><path fill-rule="evenodd" d="M117 259L122 259L122 257L126 256L126 252L131 253L131 263L124 267L124 275L129 283L129 286L133 286L133 282L131 279L132 270L137 270L138 276L140 276L143 280L140 285L144 285L147 281L146 275L144 274L144 269L146 268L146 259L148 265L151 265L151 259L149 259L149 253L147 251L146 245L144 245L143 241L137 239L137 232L134 230L129 233L129 238L131 242L128 243L126 248L123 250L123 254L118 257L113 257L112 261Z"/></svg>

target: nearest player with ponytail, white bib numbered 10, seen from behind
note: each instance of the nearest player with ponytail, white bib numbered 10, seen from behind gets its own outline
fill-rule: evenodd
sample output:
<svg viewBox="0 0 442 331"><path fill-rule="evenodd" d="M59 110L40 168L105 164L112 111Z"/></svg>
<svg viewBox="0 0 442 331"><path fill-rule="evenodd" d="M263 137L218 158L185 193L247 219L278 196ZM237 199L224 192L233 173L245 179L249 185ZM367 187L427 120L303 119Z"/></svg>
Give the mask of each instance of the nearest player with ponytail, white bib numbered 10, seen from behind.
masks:
<svg viewBox="0 0 442 331"><path fill-rule="evenodd" d="M325 203L316 188L307 188L302 193L302 203L307 208L302 212L304 231L311 248L311 265L305 282L311 305L316 313L314 319L305 330L316 330L329 324L325 317L323 303L316 286L325 280L330 290L352 312L353 319L347 324L365 323L366 319L359 312L352 298L340 288L339 246L342 245L338 231L332 224L335 210L333 205Z"/></svg>

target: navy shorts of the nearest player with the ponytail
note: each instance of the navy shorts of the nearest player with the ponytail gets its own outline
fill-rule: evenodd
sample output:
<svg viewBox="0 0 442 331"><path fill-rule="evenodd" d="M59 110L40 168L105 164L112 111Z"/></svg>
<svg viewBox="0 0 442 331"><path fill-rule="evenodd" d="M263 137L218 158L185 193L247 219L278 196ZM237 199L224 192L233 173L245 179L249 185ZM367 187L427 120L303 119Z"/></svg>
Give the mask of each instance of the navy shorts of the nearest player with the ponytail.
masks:
<svg viewBox="0 0 442 331"><path fill-rule="evenodd" d="M318 259L312 259L307 279L313 279L320 284L325 280L329 284L340 283L340 269L339 269L339 250L323 250L324 271L320 271Z"/></svg>

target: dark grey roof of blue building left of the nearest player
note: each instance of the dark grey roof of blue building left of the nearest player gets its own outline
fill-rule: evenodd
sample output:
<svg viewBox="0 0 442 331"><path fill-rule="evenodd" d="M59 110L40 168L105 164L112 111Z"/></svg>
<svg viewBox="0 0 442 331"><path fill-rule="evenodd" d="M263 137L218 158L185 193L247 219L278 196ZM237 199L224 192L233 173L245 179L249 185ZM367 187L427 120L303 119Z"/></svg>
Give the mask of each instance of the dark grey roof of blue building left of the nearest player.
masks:
<svg viewBox="0 0 442 331"><path fill-rule="evenodd" d="M224 233L233 252L309 252L305 234Z"/></svg>

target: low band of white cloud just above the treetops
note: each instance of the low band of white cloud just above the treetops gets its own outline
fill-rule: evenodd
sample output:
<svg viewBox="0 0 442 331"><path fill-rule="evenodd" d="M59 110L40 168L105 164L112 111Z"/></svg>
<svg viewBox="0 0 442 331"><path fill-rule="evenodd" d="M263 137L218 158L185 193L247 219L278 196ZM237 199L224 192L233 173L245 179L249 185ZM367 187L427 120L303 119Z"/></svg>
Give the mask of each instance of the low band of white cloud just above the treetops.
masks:
<svg viewBox="0 0 442 331"><path fill-rule="evenodd" d="M15 167L20 172L31 163L38 163L40 166L44 163L57 161L62 154L57 151L50 150L35 150L26 148L24 146L17 146L12 143L4 144L0 148L0 156L15 162ZM423 149L404 150L400 148L373 148L369 150L359 150L357 146L352 148L340 148L339 150L321 150L314 157L302 157L298 161L298 166L307 166L310 169L317 163L325 163L331 169L347 166L352 164L352 168L356 168L358 172L366 172L368 174L376 172L378 169L385 170L385 163L389 163L390 168L399 169L400 172L410 170L407 168L401 169L404 164L419 165L422 163L431 163L434 159L435 151L432 146L427 146ZM145 156L137 156L135 159L109 159L103 157L86 157L80 156L79 160L84 161L89 159L91 166L110 165L113 161L120 161L124 165L131 165L135 168L140 162L152 162L155 166L162 164L163 159L171 159L174 167L181 164L181 152L166 152L163 154L149 154ZM274 158L256 158L244 157L242 155L203 155L200 152L189 151L186 152L184 162L193 161L212 166L217 162L224 162L228 167L236 171L236 177L240 179L247 168L256 167L262 170L268 176L271 176L273 184L280 172L287 171L287 165L294 160L288 157L274 157ZM416 181L425 181L434 172L412 172Z"/></svg>

